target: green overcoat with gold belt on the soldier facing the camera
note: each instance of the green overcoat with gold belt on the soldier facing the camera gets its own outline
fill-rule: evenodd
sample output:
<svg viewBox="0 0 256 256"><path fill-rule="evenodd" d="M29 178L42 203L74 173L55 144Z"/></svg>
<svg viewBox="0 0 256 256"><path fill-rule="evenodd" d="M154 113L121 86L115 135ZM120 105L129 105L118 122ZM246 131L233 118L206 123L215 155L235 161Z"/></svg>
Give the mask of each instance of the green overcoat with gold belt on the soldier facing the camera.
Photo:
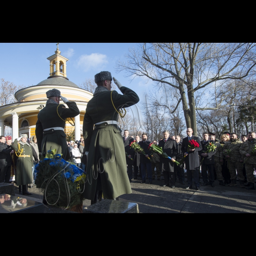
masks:
<svg viewBox="0 0 256 256"><path fill-rule="evenodd" d="M29 143L24 143L22 141L18 142L17 139L11 144L13 150L18 153L18 144L20 144L20 150L23 149L21 155L29 155L29 157L18 157L16 163L16 185L27 185L33 183L32 178L32 166L33 166L33 155L32 147Z"/></svg>

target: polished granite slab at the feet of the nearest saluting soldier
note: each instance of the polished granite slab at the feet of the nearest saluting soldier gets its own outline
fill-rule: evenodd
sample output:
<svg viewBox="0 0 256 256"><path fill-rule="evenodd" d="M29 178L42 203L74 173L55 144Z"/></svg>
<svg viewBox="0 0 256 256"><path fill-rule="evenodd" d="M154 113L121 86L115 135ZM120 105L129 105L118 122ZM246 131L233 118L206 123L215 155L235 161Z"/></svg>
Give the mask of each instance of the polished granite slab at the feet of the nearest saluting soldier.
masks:
<svg viewBox="0 0 256 256"><path fill-rule="evenodd" d="M83 213L139 213L139 206L136 203L105 199L83 208Z"/></svg>

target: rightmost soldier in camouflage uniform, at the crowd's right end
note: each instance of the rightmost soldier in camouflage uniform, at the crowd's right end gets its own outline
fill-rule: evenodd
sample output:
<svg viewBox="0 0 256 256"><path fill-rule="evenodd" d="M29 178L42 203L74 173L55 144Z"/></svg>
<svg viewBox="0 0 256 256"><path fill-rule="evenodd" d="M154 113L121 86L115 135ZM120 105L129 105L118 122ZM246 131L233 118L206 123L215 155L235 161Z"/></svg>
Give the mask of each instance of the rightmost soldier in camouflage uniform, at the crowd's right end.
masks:
<svg viewBox="0 0 256 256"><path fill-rule="evenodd" d="M246 189L255 189L253 172L254 172L254 168L256 168L256 155L252 154L253 148L255 147L256 147L255 132L249 132L248 140L242 143L240 147L240 153L243 157L243 160L246 161L245 170L246 170L246 176L248 181L248 184L245 185Z"/></svg>

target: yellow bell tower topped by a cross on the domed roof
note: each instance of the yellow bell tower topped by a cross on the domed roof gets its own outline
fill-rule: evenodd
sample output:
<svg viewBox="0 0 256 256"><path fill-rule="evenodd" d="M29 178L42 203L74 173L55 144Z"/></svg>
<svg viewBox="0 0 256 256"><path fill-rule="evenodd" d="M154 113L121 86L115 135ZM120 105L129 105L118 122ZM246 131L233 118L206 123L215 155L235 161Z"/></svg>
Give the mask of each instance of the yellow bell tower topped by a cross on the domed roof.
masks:
<svg viewBox="0 0 256 256"><path fill-rule="evenodd" d="M50 76L67 77L66 61L68 59L60 55L59 44L56 44L57 50L55 54L47 58L50 61Z"/></svg>

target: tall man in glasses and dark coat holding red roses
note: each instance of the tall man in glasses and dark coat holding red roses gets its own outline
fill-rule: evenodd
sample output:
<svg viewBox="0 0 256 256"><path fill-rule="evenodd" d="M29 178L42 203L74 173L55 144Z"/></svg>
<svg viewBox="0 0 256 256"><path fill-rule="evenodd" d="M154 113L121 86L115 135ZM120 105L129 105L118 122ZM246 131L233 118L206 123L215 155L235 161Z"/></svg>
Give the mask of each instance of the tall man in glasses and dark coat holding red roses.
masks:
<svg viewBox="0 0 256 256"><path fill-rule="evenodd" d="M186 156L185 158L185 165L187 169L187 178L188 178L188 187L186 189L192 189L192 170L194 174L194 184L196 186L196 190L199 189L199 168L200 168L200 162L199 162L199 155L198 151L202 150L201 142L200 139L194 135L193 129L188 127L187 128L187 135L188 137L184 138L182 140L182 145L181 145L181 151L182 153ZM198 144L198 148L189 148L188 150L188 142L189 140L195 140ZM187 152L188 150L188 152Z"/></svg>

